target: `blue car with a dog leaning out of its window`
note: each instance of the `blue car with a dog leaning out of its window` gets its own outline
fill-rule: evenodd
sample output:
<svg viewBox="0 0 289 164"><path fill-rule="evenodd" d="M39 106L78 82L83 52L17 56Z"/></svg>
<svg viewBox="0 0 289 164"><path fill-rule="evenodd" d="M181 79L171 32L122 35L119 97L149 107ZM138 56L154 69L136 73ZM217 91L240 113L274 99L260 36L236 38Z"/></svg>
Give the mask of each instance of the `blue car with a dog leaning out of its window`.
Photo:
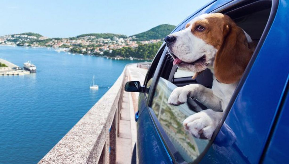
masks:
<svg viewBox="0 0 289 164"><path fill-rule="evenodd" d="M255 52L211 140L194 138L182 121L206 107L194 99L169 105L174 88L192 83L212 87L212 73L173 66L165 44L155 55L140 92L137 163L288 163L289 162L289 1L211 1L182 21L172 33L204 13L230 16L256 43Z"/></svg>

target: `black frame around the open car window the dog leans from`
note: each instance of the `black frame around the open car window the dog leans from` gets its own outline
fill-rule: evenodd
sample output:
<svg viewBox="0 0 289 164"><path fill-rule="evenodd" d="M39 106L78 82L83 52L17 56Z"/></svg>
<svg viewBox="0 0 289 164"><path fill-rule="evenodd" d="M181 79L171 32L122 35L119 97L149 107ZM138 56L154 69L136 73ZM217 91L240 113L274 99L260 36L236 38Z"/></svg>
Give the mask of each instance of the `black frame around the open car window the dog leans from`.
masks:
<svg viewBox="0 0 289 164"><path fill-rule="evenodd" d="M216 9L213 9L212 11L210 11L209 13L217 13L217 12L220 12L220 13L224 13L225 11L227 12L230 12L230 11L233 11L233 10L237 10L237 9L240 9L242 7L244 7L245 5L251 5L255 2L262 2L262 1L271 1L271 11L270 11L270 15L268 17L268 21L266 23L266 26L264 28L264 31L262 33L262 36L256 46L256 49L244 71L244 75L242 76L242 78L240 79L240 82L238 83L230 101L229 101L229 104L223 114L223 117L220 121L220 123L218 124L217 128L215 129L213 135L212 135L212 139L209 141L209 143L207 144L207 146L205 147L205 149L203 150L203 152L201 152L201 154L199 155L199 157L197 157L194 161L192 161L191 163L199 163L203 157L205 156L205 154L208 152L209 148L212 146L212 143L214 142L216 136L218 135L218 132L220 131L221 127L223 126L226 118L227 118L227 115L230 111L230 109L232 108L235 100L236 100L236 97L238 96L239 92L240 92L240 89L242 88L242 86L244 85L244 82L251 70L251 67L253 65L253 63L255 62L255 59L257 58L259 52L260 52L260 49L268 35L268 32L271 28L271 25L273 23L273 20L275 18L275 15L276 15L276 12L277 12L277 8L278 8L278 4L279 4L279 0L254 0L254 1L250 1L250 0L240 0L240 1L231 1L229 3L226 3L225 5L221 6L221 7L218 7ZM179 31L179 30L182 30L183 28L180 28L181 26L184 26L184 23L187 22L188 20L192 20L192 18L194 18L199 12L201 12L204 8L202 8L201 10L199 10L198 12L195 12L190 18L186 19L180 26L178 26L177 28L175 28L173 30L173 32L176 32L176 31ZM225 12L226 13L226 12ZM172 32L172 33L173 33ZM163 44L162 47L164 48L165 45ZM151 89L149 91L149 94L148 94L148 100L147 100L147 106L150 108L149 109L149 113L150 113L150 116L151 116L151 119L153 121L153 123L155 124L155 128L157 130L157 133L159 133L159 136L161 137L161 139L164 141L164 146L166 148L166 150L168 151L169 155L171 156L171 159L173 159L173 162L175 163L178 163L178 161L175 159L176 156L174 156L174 154L171 152L171 149L172 150L175 150L174 147L172 147L172 143L171 141L168 139L166 133L164 132L164 130L162 130L162 126L160 125L158 119L155 117L155 114L153 112L153 110L151 109L151 105L152 105L152 101L153 101L153 94L155 92L155 89L156 89L156 85L158 84L158 80L159 80L159 77L163 71L163 66L166 64L166 61L164 60L166 58L166 52L163 51L162 52L162 56L159 60L159 63L158 63L158 66L155 70L155 73L153 75L153 82L151 84ZM187 77L185 77L187 78ZM180 80L182 78L179 78ZM189 80L187 79L188 81L193 81L193 80ZM181 163L187 163L186 161L182 161Z"/></svg>

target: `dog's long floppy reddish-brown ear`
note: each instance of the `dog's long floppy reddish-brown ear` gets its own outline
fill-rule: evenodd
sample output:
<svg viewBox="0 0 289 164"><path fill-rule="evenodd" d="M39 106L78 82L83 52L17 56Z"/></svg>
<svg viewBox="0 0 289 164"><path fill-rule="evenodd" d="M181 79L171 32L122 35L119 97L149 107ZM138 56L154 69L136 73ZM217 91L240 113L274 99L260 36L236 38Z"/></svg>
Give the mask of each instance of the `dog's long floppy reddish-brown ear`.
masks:
<svg viewBox="0 0 289 164"><path fill-rule="evenodd" d="M241 79L254 48L252 43L248 43L242 28L232 20L224 25L223 38L214 61L215 76L221 83L235 83Z"/></svg>

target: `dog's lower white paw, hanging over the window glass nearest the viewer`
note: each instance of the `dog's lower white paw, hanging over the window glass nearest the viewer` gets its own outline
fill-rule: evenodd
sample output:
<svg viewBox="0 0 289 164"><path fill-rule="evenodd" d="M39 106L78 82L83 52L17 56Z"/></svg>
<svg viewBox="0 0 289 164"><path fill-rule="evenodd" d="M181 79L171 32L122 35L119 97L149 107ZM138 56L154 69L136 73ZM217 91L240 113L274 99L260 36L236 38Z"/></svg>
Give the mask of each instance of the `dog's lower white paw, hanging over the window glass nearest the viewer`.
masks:
<svg viewBox="0 0 289 164"><path fill-rule="evenodd" d="M211 139L222 116L223 112L207 109L190 115L183 121L183 125L196 138Z"/></svg>

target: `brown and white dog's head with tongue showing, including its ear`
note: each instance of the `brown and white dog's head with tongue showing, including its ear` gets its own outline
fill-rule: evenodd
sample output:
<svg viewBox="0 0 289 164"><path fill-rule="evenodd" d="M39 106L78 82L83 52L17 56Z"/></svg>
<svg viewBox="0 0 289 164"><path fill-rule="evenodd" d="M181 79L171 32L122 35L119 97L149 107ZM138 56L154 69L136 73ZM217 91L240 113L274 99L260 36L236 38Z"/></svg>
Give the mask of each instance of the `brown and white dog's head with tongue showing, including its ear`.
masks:
<svg viewBox="0 0 289 164"><path fill-rule="evenodd" d="M240 80L254 51L250 36L221 13L192 19L184 30L166 36L165 42L173 64L193 72L214 68L222 83Z"/></svg>

